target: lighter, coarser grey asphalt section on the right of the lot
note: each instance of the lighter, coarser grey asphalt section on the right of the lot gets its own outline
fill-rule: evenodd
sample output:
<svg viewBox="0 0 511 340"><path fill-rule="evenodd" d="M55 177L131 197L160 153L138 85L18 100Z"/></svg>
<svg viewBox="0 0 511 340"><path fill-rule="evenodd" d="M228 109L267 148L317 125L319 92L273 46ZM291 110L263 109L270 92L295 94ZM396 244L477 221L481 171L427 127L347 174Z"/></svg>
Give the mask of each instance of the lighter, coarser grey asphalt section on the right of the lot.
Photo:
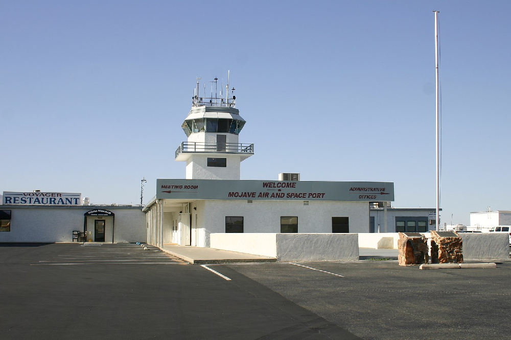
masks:
<svg viewBox="0 0 511 340"><path fill-rule="evenodd" d="M419 270L397 261L299 265L214 268L246 275L365 339L511 337L509 261L495 269Z"/></svg>

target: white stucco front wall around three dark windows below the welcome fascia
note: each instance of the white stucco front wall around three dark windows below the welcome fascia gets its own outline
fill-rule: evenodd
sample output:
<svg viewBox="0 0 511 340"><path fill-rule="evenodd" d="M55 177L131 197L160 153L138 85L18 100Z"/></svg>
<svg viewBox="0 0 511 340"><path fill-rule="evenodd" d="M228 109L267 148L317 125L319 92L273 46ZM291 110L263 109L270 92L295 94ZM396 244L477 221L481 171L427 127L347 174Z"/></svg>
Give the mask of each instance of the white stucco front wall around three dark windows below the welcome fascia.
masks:
<svg viewBox="0 0 511 340"><path fill-rule="evenodd" d="M349 217L350 233L369 231L369 203L351 201L206 200L204 227L225 232L226 216L243 216L245 233L281 231L281 216L297 216L299 233L332 233L332 217Z"/></svg>

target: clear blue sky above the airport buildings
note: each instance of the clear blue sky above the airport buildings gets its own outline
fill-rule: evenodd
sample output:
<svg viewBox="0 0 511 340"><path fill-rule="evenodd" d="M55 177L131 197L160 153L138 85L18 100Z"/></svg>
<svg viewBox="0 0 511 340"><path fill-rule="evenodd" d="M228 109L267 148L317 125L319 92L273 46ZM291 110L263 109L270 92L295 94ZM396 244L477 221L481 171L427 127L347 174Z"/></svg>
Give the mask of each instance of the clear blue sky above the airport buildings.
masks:
<svg viewBox="0 0 511 340"><path fill-rule="evenodd" d="M393 181L442 222L511 210L509 1L0 1L0 192L140 203L184 178L195 77L226 82L254 143L242 179Z"/></svg>

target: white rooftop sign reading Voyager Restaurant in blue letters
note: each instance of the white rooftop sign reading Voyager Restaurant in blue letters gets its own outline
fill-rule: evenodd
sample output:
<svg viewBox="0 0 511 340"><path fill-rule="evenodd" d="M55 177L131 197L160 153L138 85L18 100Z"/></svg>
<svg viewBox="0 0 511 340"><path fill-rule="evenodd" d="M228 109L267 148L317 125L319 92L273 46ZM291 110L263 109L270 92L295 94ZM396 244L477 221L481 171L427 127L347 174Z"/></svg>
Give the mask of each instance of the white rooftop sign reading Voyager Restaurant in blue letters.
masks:
<svg viewBox="0 0 511 340"><path fill-rule="evenodd" d="M81 193L10 192L4 191L3 204L15 205L81 205Z"/></svg>

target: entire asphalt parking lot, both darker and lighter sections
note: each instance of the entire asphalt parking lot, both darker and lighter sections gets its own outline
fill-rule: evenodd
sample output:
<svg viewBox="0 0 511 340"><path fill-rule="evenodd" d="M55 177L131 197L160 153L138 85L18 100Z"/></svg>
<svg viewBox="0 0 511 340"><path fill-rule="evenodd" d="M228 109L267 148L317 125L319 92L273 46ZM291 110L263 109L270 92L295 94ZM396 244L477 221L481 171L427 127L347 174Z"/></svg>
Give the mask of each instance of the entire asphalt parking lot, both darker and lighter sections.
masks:
<svg viewBox="0 0 511 340"><path fill-rule="evenodd" d="M511 263L189 265L134 244L0 244L0 338L508 339Z"/></svg>

